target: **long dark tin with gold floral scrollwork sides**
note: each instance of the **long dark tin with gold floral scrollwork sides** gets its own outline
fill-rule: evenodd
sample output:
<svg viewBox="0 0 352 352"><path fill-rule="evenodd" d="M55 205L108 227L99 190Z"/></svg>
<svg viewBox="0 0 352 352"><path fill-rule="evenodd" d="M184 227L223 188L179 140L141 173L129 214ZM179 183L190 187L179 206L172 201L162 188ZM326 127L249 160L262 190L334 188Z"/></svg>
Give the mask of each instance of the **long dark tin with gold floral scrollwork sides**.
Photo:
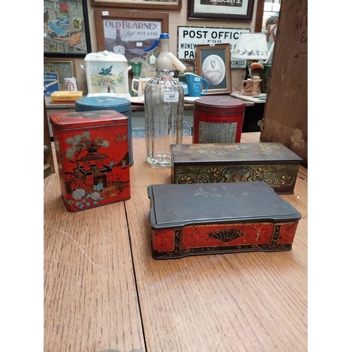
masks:
<svg viewBox="0 0 352 352"><path fill-rule="evenodd" d="M172 144L171 181L264 181L277 194L293 194L302 158L276 142Z"/></svg>

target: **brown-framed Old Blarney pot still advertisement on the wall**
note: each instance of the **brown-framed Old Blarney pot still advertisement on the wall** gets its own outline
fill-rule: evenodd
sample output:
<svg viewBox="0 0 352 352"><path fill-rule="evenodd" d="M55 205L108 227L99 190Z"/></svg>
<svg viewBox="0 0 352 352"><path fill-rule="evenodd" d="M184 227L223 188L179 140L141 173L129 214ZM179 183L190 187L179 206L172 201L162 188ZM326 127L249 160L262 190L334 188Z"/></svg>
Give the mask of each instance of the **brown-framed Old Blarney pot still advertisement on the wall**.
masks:
<svg viewBox="0 0 352 352"><path fill-rule="evenodd" d="M168 13L94 10L94 19L98 51L123 54L127 61L146 58L144 49L169 31Z"/></svg>

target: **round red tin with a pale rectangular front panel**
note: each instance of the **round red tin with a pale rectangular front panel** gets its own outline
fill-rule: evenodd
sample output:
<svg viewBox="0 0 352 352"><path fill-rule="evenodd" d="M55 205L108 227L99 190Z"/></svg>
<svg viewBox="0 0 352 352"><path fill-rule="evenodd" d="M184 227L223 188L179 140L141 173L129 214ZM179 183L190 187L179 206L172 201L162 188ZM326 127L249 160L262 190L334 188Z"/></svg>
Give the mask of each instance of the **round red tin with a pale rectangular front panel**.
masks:
<svg viewBox="0 0 352 352"><path fill-rule="evenodd" d="M232 96L203 96L194 101L193 143L239 143L244 101Z"/></svg>

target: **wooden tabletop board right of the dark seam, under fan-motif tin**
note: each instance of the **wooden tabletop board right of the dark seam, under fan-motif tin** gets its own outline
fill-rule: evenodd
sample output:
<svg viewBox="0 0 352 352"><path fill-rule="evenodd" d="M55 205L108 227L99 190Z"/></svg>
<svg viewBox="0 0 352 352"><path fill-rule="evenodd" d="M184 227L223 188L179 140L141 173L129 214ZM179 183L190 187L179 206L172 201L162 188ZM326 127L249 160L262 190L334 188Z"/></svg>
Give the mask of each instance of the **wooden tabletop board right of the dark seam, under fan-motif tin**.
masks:
<svg viewBox="0 0 352 352"><path fill-rule="evenodd" d="M258 141L259 132L242 134ZM171 183L170 168L146 163L144 143L134 139L125 205L146 351L306 351L307 177L282 196L303 216L292 251L155 260L146 187Z"/></svg>

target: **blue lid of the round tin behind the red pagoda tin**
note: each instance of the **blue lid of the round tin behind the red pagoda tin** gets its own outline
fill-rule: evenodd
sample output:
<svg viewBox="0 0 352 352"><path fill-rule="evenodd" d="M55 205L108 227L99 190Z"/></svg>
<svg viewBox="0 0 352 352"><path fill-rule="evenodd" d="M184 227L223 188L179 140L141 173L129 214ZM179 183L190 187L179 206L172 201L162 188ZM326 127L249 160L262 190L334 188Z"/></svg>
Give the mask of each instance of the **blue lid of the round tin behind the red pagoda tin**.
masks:
<svg viewBox="0 0 352 352"><path fill-rule="evenodd" d="M77 99L75 103L76 111L89 110L115 110L119 113L131 110L131 102L125 98L116 96L87 96Z"/></svg>

